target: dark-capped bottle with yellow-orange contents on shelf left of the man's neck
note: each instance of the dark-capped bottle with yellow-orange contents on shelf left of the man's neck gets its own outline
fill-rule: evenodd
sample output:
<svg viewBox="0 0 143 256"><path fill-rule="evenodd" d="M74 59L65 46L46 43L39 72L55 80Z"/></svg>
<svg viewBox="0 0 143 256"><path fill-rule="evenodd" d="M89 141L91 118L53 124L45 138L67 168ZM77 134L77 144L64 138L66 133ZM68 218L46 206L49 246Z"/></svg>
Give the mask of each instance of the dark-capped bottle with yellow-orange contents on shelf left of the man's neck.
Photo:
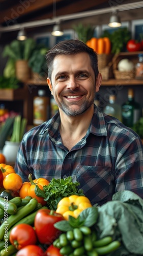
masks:
<svg viewBox="0 0 143 256"><path fill-rule="evenodd" d="M49 119L50 98L45 90L38 90L38 96L33 101L33 124L39 125Z"/></svg>

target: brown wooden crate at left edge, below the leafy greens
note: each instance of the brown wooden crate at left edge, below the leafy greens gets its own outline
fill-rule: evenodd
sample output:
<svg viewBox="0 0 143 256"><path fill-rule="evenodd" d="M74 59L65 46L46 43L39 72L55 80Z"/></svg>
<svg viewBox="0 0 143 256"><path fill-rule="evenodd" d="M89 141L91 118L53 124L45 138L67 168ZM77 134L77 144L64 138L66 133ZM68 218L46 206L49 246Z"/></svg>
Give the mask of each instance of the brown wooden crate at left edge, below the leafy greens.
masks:
<svg viewBox="0 0 143 256"><path fill-rule="evenodd" d="M19 89L0 89L1 100L23 100L26 97L24 88Z"/></svg>

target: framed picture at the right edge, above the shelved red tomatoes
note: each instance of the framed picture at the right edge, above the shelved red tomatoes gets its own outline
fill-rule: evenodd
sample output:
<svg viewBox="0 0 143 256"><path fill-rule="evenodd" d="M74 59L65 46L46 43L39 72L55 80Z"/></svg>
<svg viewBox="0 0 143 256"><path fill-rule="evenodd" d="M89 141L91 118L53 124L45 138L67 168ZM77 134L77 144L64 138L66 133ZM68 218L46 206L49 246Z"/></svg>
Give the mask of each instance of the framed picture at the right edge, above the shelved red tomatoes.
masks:
<svg viewBox="0 0 143 256"><path fill-rule="evenodd" d="M132 20L132 38L140 41L143 39L143 19Z"/></svg>

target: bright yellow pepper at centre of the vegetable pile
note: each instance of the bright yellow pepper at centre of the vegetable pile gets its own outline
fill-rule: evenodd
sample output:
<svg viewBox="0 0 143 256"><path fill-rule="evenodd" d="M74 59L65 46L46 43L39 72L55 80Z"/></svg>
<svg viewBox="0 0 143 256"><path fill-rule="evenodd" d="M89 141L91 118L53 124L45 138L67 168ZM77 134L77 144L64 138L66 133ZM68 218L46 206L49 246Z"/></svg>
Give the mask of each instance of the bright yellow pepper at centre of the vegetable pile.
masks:
<svg viewBox="0 0 143 256"><path fill-rule="evenodd" d="M77 218L82 210L89 207L92 207L92 204L87 197L72 195L60 200L56 212L68 220L69 216Z"/></svg>

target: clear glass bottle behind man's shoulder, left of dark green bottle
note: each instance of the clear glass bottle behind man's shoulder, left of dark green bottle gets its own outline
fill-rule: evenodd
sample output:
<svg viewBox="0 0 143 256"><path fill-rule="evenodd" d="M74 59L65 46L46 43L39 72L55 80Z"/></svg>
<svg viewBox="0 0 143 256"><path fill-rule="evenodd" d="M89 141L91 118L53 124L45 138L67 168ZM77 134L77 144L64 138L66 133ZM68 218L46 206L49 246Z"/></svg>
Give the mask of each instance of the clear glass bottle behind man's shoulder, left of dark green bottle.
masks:
<svg viewBox="0 0 143 256"><path fill-rule="evenodd" d="M109 116L116 117L121 121L121 106L116 103L115 95L111 94L109 96L109 103L107 103L103 112Z"/></svg>

